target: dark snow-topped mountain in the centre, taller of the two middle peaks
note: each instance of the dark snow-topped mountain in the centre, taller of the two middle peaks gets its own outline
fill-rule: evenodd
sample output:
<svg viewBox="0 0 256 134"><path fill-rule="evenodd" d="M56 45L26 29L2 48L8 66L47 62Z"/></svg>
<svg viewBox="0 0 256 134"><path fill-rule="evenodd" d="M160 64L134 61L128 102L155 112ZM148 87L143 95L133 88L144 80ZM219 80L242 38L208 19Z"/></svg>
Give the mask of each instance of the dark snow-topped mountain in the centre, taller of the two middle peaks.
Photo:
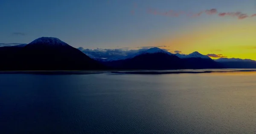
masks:
<svg viewBox="0 0 256 134"><path fill-rule="evenodd" d="M153 47L136 53L128 59L105 62L115 69L127 70L168 70L183 68L183 61L172 53Z"/></svg>

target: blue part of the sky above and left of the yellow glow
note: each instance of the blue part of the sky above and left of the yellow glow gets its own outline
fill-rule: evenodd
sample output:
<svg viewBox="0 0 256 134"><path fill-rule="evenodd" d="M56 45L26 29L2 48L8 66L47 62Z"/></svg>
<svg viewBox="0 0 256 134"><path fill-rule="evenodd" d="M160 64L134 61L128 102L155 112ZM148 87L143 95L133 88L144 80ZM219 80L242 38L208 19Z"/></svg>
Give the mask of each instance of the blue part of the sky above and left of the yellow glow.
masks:
<svg viewBox="0 0 256 134"><path fill-rule="evenodd" d="M215 8L253 14L256 0L0 0L0 42L29 43L52 36L73 47L139 47L160 45L152 42L198 25L237 21L205 14L164 17L148 14L148 8L194 13Z"/></svg>

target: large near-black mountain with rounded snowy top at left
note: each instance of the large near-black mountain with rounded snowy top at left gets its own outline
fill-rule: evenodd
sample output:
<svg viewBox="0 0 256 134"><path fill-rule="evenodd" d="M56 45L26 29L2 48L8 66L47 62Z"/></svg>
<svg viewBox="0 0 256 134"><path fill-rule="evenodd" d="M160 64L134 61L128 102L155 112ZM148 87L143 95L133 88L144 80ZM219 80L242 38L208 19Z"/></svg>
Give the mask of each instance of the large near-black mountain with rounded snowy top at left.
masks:
<svg viewBox="0 0 256 134"><path fill-rule="evenodd" d="M58 38L41 37L19 47L1 47L0 70L102 70L98 61Z"/></svg>

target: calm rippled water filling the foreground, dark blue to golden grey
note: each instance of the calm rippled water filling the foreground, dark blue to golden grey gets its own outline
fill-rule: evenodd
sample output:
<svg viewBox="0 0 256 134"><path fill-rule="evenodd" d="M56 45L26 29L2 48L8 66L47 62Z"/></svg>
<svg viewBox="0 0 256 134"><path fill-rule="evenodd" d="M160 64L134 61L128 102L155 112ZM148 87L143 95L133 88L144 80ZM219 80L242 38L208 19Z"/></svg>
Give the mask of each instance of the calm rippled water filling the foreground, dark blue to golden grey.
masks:
<svg viewBox="0 0 256 134"><path fill-rule="evenodd" d="M0 134L256 133L256 73L0 75Z"/></svg>

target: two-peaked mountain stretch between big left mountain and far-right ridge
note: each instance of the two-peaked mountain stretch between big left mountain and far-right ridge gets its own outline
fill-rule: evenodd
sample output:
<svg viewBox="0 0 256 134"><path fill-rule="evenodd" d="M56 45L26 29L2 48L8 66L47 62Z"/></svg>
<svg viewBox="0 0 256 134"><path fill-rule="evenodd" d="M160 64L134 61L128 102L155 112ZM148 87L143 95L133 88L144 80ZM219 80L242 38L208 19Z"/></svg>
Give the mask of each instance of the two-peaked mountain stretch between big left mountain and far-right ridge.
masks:
<svg viewBox="0 0 256 134"><path fill-rule="evenodd" d="M168 70L168 69L215 69L222 68L221 64L201 53L189 55L172 54L158 47L138 52L123 59L97 59L106 66L115 69L133 70Z"/></svg>

